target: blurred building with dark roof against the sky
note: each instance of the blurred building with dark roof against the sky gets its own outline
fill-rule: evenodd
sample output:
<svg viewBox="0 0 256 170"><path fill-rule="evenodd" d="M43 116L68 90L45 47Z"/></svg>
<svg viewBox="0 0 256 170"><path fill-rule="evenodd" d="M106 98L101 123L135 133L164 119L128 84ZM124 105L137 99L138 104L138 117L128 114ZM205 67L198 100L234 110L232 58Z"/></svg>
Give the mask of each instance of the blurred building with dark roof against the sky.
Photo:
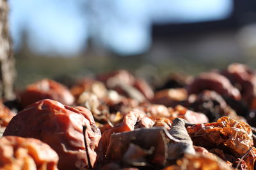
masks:
<svg viewBox="0 0 256 170"><path fill-rule="evenodd" d="M256 1L232 1L226 18L153 25L150 57L230 60L256 57ZM158 59L157 59L158 60Z"/></svg>

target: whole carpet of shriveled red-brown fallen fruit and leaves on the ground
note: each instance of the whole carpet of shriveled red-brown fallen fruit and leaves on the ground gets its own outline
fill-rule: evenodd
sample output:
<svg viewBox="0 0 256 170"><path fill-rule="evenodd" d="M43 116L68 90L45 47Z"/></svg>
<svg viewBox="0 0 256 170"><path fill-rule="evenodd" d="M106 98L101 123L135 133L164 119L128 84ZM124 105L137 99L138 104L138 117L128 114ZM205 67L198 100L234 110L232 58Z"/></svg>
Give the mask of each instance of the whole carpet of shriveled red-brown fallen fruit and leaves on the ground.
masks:
<svg viewBox="0 0 256 170"><path fill-rule="evenodd" d="M70 89L44 79L19 97L17 115L0 105L0 169L256 169L256 74L243 64L154 90L124 70Z"/></svg>

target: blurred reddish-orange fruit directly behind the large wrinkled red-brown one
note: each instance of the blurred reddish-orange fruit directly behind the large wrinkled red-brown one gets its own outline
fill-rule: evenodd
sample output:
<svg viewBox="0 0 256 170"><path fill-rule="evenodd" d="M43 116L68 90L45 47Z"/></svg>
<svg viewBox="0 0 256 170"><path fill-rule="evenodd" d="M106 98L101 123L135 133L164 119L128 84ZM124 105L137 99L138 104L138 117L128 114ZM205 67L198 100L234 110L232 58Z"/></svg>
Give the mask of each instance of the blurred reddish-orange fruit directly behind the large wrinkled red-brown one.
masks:
<svg viewBox="0 0 256 170"><path fill-rule="evenodd" d="M47 78L28 85L20 99L22 108L42 99L52 99L67 105L73 104L75 100L67 87Z"/></svg>

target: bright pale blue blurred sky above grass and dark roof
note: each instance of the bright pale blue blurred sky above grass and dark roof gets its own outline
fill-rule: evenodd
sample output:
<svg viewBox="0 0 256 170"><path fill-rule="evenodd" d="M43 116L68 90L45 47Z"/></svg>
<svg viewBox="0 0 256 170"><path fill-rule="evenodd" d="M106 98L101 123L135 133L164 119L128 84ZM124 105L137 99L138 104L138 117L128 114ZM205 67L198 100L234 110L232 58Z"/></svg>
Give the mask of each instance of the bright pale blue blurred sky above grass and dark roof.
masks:
<svg viewBox="0 0 256 170"><path fill-rule="evenodd" d="M120 55L150 48L152 23L220 20L232 0L9 0L10 30L18 50L21 32L36 53L76 55L92 38Z"/></svg>

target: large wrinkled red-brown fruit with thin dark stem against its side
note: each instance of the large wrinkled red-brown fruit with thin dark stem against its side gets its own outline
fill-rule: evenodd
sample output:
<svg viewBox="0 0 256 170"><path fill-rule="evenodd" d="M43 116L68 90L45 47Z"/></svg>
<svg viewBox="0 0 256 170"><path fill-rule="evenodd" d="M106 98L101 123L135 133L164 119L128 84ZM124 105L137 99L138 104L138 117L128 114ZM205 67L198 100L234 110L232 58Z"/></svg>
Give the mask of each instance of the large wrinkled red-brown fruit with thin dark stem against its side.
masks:
<svg viewBox="0 0 256 170"><path fill-rule="evenodd" d="M4 131L4 136L36 138L50 145L60 156L60 169L88 167L84 150L83 125L86 125L86 141L92 166L100 130L92 113L83 107L65 106L57 101L44 99L20 111Z"/></svg>

